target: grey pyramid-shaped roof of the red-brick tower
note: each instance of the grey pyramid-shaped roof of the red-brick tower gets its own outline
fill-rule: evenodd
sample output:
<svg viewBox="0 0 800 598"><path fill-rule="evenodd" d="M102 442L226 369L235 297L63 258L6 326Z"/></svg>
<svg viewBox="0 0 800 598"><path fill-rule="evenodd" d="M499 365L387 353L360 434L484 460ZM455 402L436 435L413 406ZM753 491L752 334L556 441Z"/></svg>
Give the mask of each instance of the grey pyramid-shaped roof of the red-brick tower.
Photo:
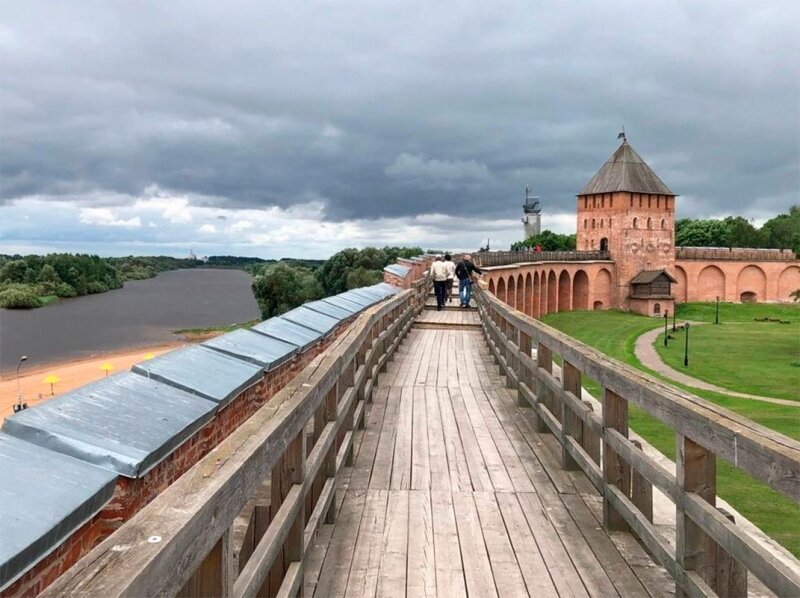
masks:
<svg viewBox="0 0 800 598"><path fill-rule="evenodd" d="M614 191L675 195L627 141L622 142L578 195Z"/></svg>

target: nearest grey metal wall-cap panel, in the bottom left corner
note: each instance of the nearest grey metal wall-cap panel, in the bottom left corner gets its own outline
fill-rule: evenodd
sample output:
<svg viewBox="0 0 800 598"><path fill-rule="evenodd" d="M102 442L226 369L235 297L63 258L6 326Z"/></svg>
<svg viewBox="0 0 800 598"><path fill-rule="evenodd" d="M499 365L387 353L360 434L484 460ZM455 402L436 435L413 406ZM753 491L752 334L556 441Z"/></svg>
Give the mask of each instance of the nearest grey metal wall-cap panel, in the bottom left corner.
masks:
<svg viewBox="0 0 800 598"><path fill-rule="evenodd" d="M116 479L107 469L0 433L0 590L97 514Z"/></svg>

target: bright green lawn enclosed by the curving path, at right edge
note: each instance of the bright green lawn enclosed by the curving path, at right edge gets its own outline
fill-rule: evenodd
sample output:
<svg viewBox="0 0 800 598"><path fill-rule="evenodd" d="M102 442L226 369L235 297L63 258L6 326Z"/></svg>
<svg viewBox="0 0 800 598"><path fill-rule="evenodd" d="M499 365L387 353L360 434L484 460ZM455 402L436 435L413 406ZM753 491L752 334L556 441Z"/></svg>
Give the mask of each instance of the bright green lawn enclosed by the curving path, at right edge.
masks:
<svg viewBox="0 0 800 598"><path fill-rule="evenodd" d="M717 386L755 395L800 400L800 322L733 322L703 324L689 329L689 367L684 367L683 330L664 346L659 335L656 351L661 359Z"/></svg>

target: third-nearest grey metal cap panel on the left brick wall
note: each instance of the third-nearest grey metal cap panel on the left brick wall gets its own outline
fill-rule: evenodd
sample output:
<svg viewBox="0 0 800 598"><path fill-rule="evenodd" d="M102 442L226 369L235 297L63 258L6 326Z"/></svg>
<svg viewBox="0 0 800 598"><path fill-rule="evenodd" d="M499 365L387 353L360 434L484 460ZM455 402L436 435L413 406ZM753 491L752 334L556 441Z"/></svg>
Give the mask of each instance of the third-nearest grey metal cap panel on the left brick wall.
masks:
<svg viewBox="0 0 800 598"><path fill-rule="evenodd" d="M201 345L192 345L137 363L131 371L226 405L261 379L260 365Z"/></svg>

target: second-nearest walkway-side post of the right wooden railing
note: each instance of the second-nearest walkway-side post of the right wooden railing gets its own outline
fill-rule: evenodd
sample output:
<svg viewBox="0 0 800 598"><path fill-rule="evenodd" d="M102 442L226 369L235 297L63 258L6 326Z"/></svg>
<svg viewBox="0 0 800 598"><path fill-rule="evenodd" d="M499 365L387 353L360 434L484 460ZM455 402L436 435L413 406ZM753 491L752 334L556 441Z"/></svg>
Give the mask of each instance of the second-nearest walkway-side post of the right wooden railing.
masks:
<svg viewBox="0 0 800 598"><path fill-rule="evenodd" d="M608 390L603 392L603 426L613 429L625 438L628 437L628 402L621 396ZM623 461L611 445L603 440L603 480L610 486L629 495L631 487L631 468ZM612 506L611 501L603 498L603 525L610 530L628 531L630 528L625 519Z"/></svg>

